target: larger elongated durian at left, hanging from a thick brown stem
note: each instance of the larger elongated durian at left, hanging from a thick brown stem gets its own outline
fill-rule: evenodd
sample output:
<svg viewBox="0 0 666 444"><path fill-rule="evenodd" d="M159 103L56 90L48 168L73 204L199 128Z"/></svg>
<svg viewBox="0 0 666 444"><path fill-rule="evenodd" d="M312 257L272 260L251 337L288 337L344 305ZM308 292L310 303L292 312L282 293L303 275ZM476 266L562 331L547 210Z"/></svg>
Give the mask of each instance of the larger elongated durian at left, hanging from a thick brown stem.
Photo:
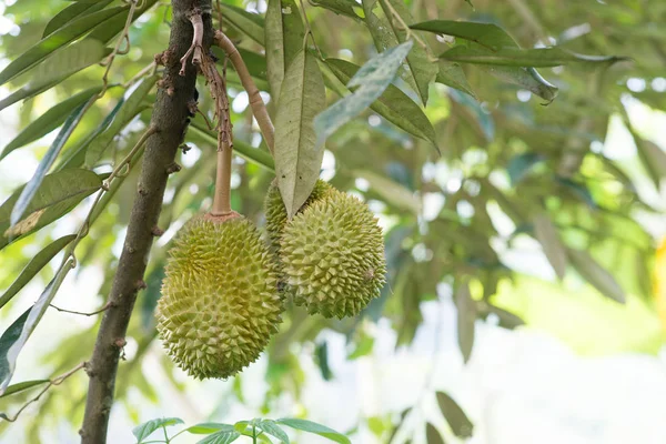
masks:
<svg viewBox="0 0 666 444"><path fill-rule="evenodd" d="M238 214L195 216L169 254L157 326L173 361L196 379L225 379L254 362L283 311L256 226Z"/></svg>

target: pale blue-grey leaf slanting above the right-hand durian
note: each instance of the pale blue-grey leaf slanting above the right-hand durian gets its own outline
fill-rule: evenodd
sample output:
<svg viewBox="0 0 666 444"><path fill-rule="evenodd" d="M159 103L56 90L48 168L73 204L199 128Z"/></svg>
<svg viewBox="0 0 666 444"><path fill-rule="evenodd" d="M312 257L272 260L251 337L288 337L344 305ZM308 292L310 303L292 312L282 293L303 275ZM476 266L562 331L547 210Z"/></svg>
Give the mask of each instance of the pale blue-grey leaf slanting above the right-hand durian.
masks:
<svg viewBox="0 0 666 444"><path fill-rule="evenodd" d="M408 41L387 49L370 59L354 73L346 85L359 88L314 118L317 144L322 144L339 128L354 119L382 95L395 79L395 73L412 49L412 44Z"/></svg>

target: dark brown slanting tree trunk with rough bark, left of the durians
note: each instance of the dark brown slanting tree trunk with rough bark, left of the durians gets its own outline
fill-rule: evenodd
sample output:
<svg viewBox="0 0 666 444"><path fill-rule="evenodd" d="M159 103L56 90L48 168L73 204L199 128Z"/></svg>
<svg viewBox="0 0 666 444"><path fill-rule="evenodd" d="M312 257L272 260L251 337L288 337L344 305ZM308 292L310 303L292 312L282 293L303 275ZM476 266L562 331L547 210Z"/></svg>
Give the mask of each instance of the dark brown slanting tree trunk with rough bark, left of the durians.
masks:
<svg viewBox="0 0 666 444"><path fill-rule="evenodd" d="M188 103L194 100L196 82L196 70L191 62L188 62L184 75L179 75L179 59L192 43L193 30L188 14L199 9L203 16L203 51L209 51L213 38L211 0L172 0L171 3L171 38L169 49L162 57L164 78L160 83L151 120L157 133L148 140L137 198L108 300L110 307L102 317L92 359L87 365L90 382L80 431L83 444L107 442L118 363L125 344L137 292L145 286L143 273L157 232L153 228L162 208L167 179L179 170L174 163L175 153L188 129Z"/></svg>

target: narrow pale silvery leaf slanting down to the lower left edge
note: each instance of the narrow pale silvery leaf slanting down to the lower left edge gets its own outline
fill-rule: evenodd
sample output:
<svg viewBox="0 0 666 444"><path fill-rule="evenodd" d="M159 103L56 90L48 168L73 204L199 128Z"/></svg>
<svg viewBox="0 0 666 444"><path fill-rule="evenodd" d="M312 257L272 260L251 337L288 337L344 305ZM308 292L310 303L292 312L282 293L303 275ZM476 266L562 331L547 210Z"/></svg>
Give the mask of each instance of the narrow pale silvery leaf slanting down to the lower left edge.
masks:
<svg viewBox="0 0 666 444"><path fill-rule="evenodd" d="M49 285L47 285L34 305L26 311L26 313L9 327L8 337L6 339L6 332L0 339L0 395L4 393L11 382L19 353L49 309L49 304L53 297L56 297L58 289L60 289L62 281L70 270L71 268L69 265L63 264L51 282L49 282Z"/></svg>

